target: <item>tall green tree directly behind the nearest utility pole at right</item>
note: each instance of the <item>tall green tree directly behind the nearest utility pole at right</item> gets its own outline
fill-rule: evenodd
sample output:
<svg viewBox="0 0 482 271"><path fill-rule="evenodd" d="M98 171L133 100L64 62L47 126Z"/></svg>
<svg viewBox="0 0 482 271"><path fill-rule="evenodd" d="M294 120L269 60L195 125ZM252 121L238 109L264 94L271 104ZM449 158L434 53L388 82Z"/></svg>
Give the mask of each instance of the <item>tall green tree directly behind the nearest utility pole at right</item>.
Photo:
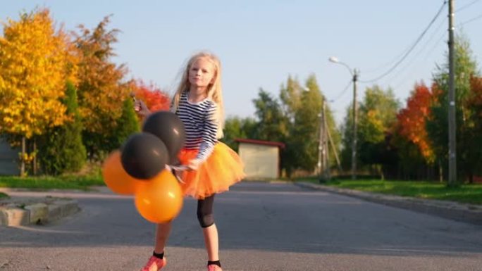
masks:
<svg viewBox="0 0 482 271"><path fill-rule="evenodd" d="M471 77L478 77L476 61L472 56L468 39L458 34L455 39L455 114L457 134L457 176L471 179L474 170L480 165L474 164L474 145L472 140L473 112L467 102L471 96ZM448 59L448 58L447 58ZM431 114L426 122L428 137L440 164L440 171L447 174L448 153L448 61L437 66L433 75L434 99Z"/></svg>

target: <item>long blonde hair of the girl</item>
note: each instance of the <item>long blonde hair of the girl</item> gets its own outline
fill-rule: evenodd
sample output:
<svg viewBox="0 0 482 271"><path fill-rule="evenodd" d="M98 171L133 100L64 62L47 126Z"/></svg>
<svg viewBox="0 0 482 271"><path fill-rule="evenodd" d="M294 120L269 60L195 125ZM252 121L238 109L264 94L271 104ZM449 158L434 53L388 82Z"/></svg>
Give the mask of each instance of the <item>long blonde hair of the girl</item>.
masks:
<svg viewBox="0 0 482 271"><path fill-rule="evenodd" d="M218 124L218 132L216 133L216 137L220 139L223 137L224 127L223 89L221 88L221 62L213 53L202 51L195 53L193 56L191 56L191 58L189 58L189 61L187 61L186 67L183 71L183 75L181 76L179 86L173 96L171 111L177 111L181 94L190 89L191 84L189 82L189 70L192 64L194 64L194 62L196 62L199 58L207 59L214 65L214 81L208 86L207 98L216 103L217 110L213 116L213 119Z"/></svg>

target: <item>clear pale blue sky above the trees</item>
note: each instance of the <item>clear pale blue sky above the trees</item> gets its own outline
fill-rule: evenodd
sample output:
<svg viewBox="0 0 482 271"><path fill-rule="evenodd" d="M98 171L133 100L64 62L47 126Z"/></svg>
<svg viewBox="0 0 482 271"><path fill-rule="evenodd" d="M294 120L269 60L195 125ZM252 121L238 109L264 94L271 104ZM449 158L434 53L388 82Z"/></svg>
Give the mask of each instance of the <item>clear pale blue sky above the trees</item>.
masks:
<svg viewBox="0 0 482 271"><path fill-rule="evenodd" d="M254 117L252 100L260 88L278 97L288 76L304 84L315 75L340 123L353 102L349 84L354 69L359 70L357 101L362 101L366 87L377 84L393 89L404 105L416 82L431 84L436 65L447 58L448 4L443 3L0 0L0 21L18 20L21 11L47 7L57 25L77 30L80 24L92 29L111 15L109 27L121 30L113 61L128 66L128 79L152 82L169 94L187 58L211 51L221 59L228 117ZM455 26L469 39L480 70L482 1L455 1ZM331 56L350 69L329 62Z"/></svg>

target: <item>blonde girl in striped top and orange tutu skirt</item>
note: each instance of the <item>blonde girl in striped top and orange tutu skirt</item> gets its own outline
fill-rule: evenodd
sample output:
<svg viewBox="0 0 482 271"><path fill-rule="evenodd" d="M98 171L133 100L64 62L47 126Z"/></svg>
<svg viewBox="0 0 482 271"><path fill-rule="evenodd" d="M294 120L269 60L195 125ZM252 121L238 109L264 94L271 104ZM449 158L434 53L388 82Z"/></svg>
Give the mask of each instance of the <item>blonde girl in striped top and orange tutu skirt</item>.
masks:
<svg viewBox="0 0 482 271"><path fill-rule="evenodd" d="M186 196L197 198L197 219L204 234L208 271L222 271L218 256L218 229L214 224L214 196L239 182L245 174L233 150L218 141L223 137L223 97L221 95L221 64L211 53L197 53L187 62L171 110L183 121L186 131L180 163L187 170L180 172ZM147 115L142 101L135 111ZM171 222L156 225L154 253L142 271L158 271L166 265L164 248Z"/></svg>

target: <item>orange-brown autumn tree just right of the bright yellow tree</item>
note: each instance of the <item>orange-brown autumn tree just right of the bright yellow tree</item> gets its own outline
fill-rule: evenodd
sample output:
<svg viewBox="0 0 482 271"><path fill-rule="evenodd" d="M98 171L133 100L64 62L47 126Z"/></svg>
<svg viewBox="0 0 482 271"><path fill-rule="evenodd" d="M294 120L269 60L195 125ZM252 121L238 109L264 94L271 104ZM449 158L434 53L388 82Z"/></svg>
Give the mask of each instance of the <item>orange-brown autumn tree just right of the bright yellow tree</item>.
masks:
<svg viewBox="0 0 482 271"><path fill-rule="evenodd" d="M123 77L125 65L111 61L119 30L108 30L109 17L92 31L80 25L75 44L80 51L78 97L85 131L83 139L90 158L117 148L110 141L121 118L123 102L130 89Z"/></svg>

